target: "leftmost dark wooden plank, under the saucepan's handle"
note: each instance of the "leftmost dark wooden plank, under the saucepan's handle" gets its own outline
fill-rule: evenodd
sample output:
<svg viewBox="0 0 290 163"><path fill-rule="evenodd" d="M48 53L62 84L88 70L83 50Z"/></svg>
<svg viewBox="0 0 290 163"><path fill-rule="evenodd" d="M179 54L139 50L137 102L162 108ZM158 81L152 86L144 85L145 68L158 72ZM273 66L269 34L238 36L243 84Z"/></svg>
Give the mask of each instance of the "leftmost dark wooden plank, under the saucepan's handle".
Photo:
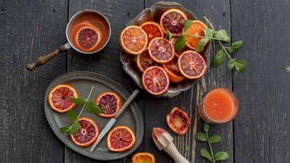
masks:
<svg viewBox="0 0 290 163"><path fill-rule="evenodd" d="M66 1L0 1L0 162L62 162L63 143L43 111L66 54L29 73L26 64L65 43Z"/></svg>

